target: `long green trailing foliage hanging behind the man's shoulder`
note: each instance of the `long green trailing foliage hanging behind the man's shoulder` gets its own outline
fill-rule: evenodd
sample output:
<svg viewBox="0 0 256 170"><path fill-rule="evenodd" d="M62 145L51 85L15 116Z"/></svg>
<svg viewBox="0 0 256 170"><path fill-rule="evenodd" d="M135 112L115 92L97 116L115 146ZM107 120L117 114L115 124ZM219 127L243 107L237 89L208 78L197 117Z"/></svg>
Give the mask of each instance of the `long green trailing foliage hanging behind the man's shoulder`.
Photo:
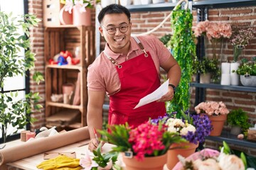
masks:
<svg viewBox="0 0 256 170"><path fill-rule="evenodd" d="M188 110L190 106L189 84L193 74L192 62L196 59L196 45L192 32L193 15L191 11L178 6L171 15L171 28L173 36L167 44L173 50L174 58L181 67L181 81L176 88L172 101L167 102L168 113Z"/></svg>

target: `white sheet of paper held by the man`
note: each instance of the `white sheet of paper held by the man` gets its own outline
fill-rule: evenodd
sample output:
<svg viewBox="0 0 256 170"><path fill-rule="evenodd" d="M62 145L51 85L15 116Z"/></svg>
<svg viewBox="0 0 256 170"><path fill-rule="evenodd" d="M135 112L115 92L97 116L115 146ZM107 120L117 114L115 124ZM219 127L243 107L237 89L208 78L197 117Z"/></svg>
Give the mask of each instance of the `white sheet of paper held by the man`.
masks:
<svg viewBox="0 0 256 170"><path fill-rule="evenodd" d="M168 92L168 84L169 84L169 79L166 80L164 84L159 86L159 88L153 91L151 94L148 94L144 96L144 98L141 98L137 106L134 107L134 109L139 108L140 106L144 106L147 103L151 103L152 101L156 101L159 98L161 98L161 96L164 96L164 94Z"/></svg>

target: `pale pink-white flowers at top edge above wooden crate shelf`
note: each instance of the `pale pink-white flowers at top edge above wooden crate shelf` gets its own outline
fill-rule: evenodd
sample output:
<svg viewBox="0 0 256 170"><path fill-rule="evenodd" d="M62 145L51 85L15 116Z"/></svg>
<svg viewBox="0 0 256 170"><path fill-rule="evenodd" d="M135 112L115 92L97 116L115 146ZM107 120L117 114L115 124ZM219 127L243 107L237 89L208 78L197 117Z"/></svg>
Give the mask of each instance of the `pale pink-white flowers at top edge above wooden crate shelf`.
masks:
<svg viewBox="0 0 256 170"><path fill-rule="evenodd" d="M61 0L60 3L65 4L65 11L68 11L69 13L72 13L73 6L79 6L80 7L80 13L85 12L86 8L94 8L97 3L99 3L100 0Z"/></svg>

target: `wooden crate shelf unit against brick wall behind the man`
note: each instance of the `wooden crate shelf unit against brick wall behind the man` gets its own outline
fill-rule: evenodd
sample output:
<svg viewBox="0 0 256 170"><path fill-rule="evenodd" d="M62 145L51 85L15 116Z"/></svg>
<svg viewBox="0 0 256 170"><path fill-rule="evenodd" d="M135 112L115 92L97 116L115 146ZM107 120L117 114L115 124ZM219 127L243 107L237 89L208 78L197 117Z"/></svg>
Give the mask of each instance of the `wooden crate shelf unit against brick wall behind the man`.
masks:
<svg viewBox="0 0 256 170"><path fill-rule="evenodd" d="M54 26L45 28L45 63L46 63L46 118L50 115L75 109L80 111L79 123L70 125L73 128L87 125L87 67L95 59L95 28L93 26ZM77 65L50 64L61 50L73 52L80 47L80 63ZM80 87L80 105L51 101L52 94L63 94L63 84L77 84ZM75 93L75 91L74 91ZM79 125L78 125L79 124ZM70 127L67 127L70 128Z"/></svg>

